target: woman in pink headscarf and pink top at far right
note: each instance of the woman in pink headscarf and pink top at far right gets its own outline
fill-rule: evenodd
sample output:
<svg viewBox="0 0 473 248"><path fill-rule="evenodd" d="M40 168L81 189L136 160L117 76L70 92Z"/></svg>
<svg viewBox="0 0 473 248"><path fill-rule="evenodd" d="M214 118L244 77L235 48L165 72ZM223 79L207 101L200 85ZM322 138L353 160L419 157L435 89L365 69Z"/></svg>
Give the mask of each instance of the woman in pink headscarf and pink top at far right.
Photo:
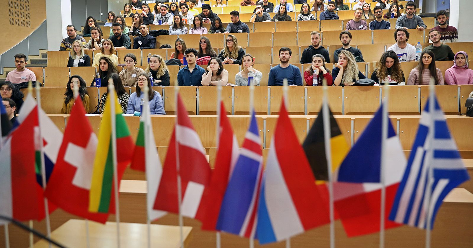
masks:
<svg viewBox="0 0 473 248"><path fill-rule="evenodd" d="M455 54L453 66L445 71L446 85L473 85L473 70L468 68L468 54L459 51Z"/></svg>

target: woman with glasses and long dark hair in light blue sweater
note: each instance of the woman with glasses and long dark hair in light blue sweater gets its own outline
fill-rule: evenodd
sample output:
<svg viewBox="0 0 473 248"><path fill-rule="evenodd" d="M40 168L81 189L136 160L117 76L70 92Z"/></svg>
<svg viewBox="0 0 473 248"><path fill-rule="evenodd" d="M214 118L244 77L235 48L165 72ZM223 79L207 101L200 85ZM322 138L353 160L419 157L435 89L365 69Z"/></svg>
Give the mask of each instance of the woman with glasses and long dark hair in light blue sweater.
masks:
<svg viewBox="0 0 473 248"><path fill-rule="evenodd" d="M140 113L141 111L141 99L145 98L144 89L148 86L148 101L149 101L149 111L151 114L166 114L164 111L164 101L157 91L153 90L151 87L151 79L148 74L141 73L138 75L138 84L136 85L136 92L131 93L130 99L128 100L128 105L126 108L127 114ZM141 113L140 113L141 115Z"/></svg>

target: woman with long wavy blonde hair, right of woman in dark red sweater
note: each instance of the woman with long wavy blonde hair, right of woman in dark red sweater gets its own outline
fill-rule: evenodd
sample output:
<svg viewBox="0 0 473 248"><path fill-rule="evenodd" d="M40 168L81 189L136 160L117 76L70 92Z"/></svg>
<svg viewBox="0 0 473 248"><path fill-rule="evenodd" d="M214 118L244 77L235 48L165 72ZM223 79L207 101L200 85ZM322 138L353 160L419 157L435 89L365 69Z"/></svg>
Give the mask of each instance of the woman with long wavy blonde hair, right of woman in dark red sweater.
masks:
<svg viewBox="0 0 473 248"><path fill-rule="evenodd" d="M335 86L350 86L366 77L359 71L353 54L343 50L338 56L336 67L332 69L332 78Z"/></svg>

